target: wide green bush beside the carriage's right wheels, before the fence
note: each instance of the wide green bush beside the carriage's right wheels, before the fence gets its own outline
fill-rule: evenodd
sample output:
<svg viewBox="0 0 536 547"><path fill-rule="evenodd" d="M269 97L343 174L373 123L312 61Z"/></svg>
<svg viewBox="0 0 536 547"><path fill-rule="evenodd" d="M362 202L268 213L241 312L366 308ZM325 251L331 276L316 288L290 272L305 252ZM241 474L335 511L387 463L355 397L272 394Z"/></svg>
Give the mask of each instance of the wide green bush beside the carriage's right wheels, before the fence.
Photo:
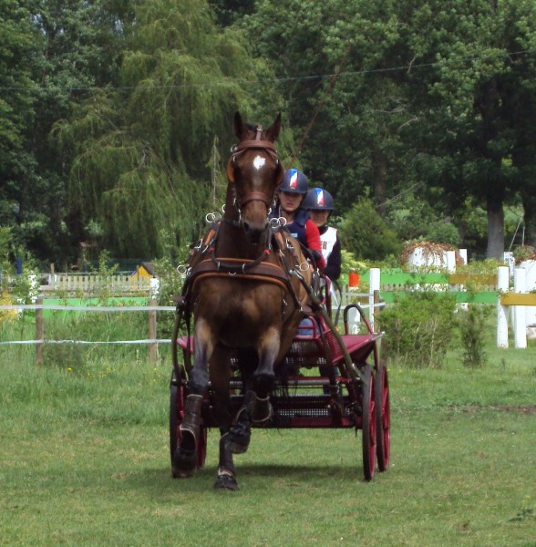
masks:
<svg viewBox="0 0 536 547"><path fill-rule="evenodd" d="M433 291L397 298L379 316L387 335L382 352L396 365L438 368L454 335L456 298Z"/></svg>

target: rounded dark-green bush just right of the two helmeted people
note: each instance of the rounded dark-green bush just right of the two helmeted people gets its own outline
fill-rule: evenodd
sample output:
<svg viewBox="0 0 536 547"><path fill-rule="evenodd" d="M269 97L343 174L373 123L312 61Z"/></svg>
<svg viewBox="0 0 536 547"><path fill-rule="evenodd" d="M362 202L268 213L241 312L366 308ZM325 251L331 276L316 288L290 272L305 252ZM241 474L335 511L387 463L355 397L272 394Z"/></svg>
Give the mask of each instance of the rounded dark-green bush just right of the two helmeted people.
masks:
<svg viewBox="0 0 536 547"><path fill-rule="evenodd" d="M345 214L340 238L342 246L360 259L383 260L400 251L397 235L376 212L373 202L365 198Z"/></svg>

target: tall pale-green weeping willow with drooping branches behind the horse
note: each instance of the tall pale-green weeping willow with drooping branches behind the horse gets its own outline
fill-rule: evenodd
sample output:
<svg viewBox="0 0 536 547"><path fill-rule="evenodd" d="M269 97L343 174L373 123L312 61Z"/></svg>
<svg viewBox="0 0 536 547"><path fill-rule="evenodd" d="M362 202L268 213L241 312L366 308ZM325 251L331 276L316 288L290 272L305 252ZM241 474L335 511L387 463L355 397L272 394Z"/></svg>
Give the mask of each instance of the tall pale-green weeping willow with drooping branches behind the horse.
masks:
<svg viewBox="0 0 536 547"><path fill-rule="evenodd" d="M57 123L74 157L69 195L80 224L101 226L120 256L160 257L167 233L177 244L197 237L214 137L229 150L234 111L253 104L243 82L261 68L239 32L214 25L206 2L136 5L119 88L94 92Z"/></svg>

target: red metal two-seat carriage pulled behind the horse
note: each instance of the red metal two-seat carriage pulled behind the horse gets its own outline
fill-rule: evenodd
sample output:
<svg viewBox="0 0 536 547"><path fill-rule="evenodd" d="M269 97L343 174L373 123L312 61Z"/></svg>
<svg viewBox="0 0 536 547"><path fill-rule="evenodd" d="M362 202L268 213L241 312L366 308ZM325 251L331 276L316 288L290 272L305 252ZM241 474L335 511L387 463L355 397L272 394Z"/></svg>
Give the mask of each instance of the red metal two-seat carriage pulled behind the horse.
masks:
<svg viewBox="0 0 536 547"><path fill-rule="evenodd" d="M366 332L349 334L348 316L356 308ZM371 480L377 470L385 471L390 452L390 408L387 367L380 358L381 333L373 332L359 304L344 310L344 335L324 316L300 329L294 336L283 368L290 374L276 386L271 397L273 414L263 428L353 428L361 430L363 472ZM191 336L181 336L177 344L184 362L193 352ZM238 357L235 357L238 358ZM325 376L319 376L322 371ZM244 393L238 367L230 383L232 413L242 408ZM170 453L177 449L180 423L188 395L188 371L182 367L170 380ZM204 466L207 430L218 427L214 416L213 393L207 390L202 405L201 446L198 467Z"/></svg>

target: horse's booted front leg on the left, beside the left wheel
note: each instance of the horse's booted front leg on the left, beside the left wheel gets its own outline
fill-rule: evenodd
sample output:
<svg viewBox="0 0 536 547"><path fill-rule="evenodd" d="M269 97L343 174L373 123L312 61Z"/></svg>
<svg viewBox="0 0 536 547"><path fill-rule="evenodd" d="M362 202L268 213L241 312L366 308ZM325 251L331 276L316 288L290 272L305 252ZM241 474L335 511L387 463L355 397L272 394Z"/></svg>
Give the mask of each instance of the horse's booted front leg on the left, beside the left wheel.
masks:
<svg viewBox="0 0 536 547"><path fill-rule="evenodd" d="M186 397L184 418L179 428L180 444L173 456L173 474L180 478L191 477L197 469L201 408L209 385L209 357L213 348L210 331L203 326L202 321L196 325L194 360L188 383L190 393Z"/></svg>

